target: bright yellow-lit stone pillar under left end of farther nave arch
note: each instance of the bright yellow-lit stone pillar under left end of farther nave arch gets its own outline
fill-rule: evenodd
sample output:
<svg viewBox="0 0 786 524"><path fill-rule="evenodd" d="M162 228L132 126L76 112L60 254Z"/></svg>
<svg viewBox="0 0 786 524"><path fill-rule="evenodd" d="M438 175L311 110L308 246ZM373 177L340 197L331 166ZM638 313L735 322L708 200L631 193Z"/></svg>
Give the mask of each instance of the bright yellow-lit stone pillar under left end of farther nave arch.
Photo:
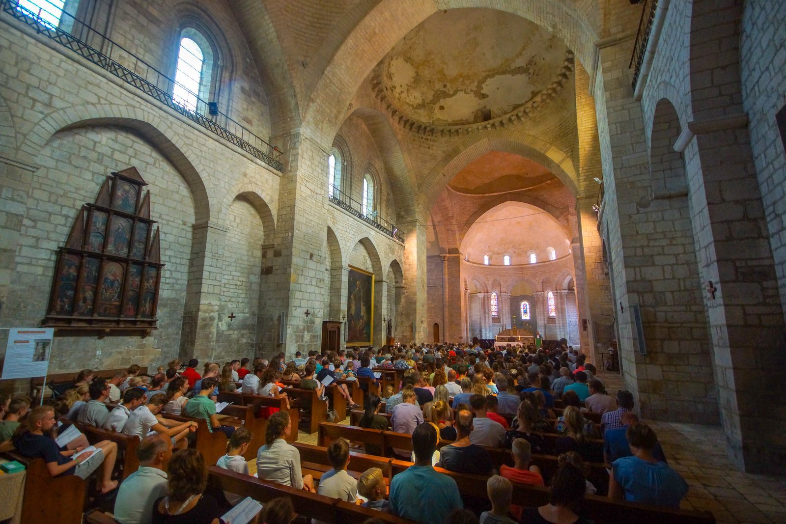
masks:
<svg viewBox="0 0 786 524"><path fill-rule="evenodd" d="M421 220L402 222L404 239L404 295L402 296L402 320L407 326L402 332L414 332L401 342L424 342L426 339L426 225ZM398 337L397 337L398 338Z"/></svg>

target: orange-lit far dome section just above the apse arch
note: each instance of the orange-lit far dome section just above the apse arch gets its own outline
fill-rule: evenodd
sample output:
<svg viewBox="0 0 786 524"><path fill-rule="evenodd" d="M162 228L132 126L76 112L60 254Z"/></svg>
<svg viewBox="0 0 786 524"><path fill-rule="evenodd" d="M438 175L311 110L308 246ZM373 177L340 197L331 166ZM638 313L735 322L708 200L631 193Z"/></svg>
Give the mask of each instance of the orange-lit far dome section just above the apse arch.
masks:
<svg viewBox="0 0 786 524"><path fill-rule="evenodd" d="M450 189L489 195L531 189L556 177L537 162L513 153L490 151L468 163L450 181Z"/></svg>

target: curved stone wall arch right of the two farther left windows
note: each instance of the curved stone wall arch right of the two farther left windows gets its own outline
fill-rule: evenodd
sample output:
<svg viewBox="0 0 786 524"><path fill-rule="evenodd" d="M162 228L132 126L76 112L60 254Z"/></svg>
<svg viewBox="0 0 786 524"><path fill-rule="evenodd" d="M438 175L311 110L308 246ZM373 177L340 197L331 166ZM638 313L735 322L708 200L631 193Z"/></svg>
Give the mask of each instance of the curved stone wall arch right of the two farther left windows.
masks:
<svg viewBox="0 0 786 524"><path fill-rule="evenodd" d="M413 211L416 184L413 179L413 170L407 165L399 137L393 131L390 120L384 113L373 108L355 109L352 116L357 116L362 120L380 152L387 181L393 192L393 201L396 207L394 214L409 216Z"/></svg>

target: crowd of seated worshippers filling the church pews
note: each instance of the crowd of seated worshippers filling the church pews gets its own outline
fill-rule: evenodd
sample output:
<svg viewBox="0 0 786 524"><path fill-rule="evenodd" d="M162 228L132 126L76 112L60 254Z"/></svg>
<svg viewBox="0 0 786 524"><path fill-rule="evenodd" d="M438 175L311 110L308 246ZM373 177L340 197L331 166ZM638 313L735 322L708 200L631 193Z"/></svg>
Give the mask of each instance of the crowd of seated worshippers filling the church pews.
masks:
<svg viewBox="0 0 786 524"><path fill-rule="evenodd" d="M412 453L394 452L413 465L395 475L389 489L377 468L357 480L347 474L351 446L343 439L327 449L331 471L318 482L302 475L299 451L284 438L292 430L285 411L268 413L256 475L416 522L478 522L463 509L456 482L436 466L487 476L491 509L479 516L479 522L570 523L586 522L578 516L578 508L586 494L597 491L586 479L586 463L604 462L611 464L608 497L679 507L688 486L667 464L652 428L638 421L629 391L610 396L593 365L571 348L493 349L476 344L383 346L376 351L369 347L325 355L314 351L305 358L298 352L288 361L278 354L270 361L243 358L223 366L208 362L201 374L196 359L185 365L175 360L152 376L131 365L108 380L85 369L75 376L72 389L33 409L30 398L9 398L0 392L0 451L14 449L23 456L41 457L53 477L94 478L99 493L119 490L114 517L122 524L217 524L226 510L222 504L237 504L242 497L224 493L226 500L219 501L204 493L208 464L193 447L197 423L169 420L167 414L204 420L211 432L224 432L227 453L217 465L248 475L244 454L252 434L245 427L222 426L216 411L219 392L285 398L283 381L299 380L299 388L316 390L327 401L325 376L345 380L365 376L376 382L374 368L393 368L402 370L403 379L395 391L387 387L381 398L366 394L359 422L361 427L382 430L391 425L393 431L412 435ZM434 371L419 371L419 362L432 364ZM358 407L346 385L342 394L348 408ZM560 416L553 411L556 398L564 405ZM389 421L380 415L383 401ZM601 423L585 417L587 412L601 414ZM113 480L115 442L98 442L94 451L80 453L89 445L80 434L58 445L55 439L73 422L137 435L141 439L136 449L138 471L120 486ZM546 433L560 437L546 439ZM602 453L595 442L589 442L595 438L604 440ZM497 470L487 448L510 449L514 465ZM381 455L375 445L365 445L363 451ZM549 504L521 508L512 504L511 482L544 485L542 472L530 464L533 453L559 456L560 467L549 483ZM295 518L290 501L281 499L265 504L259 522Z"/></svg>

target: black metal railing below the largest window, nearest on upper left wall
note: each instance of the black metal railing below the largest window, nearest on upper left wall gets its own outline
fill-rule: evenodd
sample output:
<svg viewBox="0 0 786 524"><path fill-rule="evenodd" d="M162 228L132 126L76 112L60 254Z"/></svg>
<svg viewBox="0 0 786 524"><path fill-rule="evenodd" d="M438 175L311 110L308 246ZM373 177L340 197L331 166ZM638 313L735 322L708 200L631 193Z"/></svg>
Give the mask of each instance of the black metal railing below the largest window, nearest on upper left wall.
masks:
<svg viewBox="0 0 786 524"><path fill-rule="evenodd" d="M38 3L42 4L44 2ZM71 49L81 57L90 60L93 64L155 98L162 104L166 104L211 133L237 145L237 147L262 160L275 170L282 170L283 166L281 161L278 160L281 157L281 151L231 119L226 113L214 109L213 114L210 114L208 101L204 101L196 93L187 90L180 83L177 84L178 87L182 87L193 95L193 100L196 100L196 108L186 108L185 105L173 99L174 80L152 67L145 60L141 60L128 49L112 42L101 32L96 31L90 25L68 13L56 13L57 16L54 16L54 20L59 20L56 26L50 21L53 20L52 9L56 8L47 10L39 6L39 9L34 12L28 9L27 6L30 5L31 2L24 2L24 5L20 5L19 0L0 0L2 12L35 29L40 35L45 35L61 46ZM64 27L68 27L68 31ZM79 38L74 35L79 35ZM90 42L90 44L86 42Z"/></svg>

